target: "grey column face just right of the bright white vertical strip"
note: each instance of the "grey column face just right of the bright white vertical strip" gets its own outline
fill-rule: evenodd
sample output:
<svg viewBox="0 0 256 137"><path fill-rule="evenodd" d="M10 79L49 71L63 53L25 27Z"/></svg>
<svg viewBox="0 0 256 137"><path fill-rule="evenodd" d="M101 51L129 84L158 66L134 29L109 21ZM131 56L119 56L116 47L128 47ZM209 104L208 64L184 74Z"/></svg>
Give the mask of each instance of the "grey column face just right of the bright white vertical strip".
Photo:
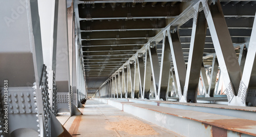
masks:
<svg viewBox="0 0 256 137"><path fill-rule="evenodd" d="M72 91L70 88L70 65L66 2L59 1L56 47L57 112L69 112L72 116ZM81 53L81 52L79 52ZM81 60L79 60L81 63Z"/></svg>

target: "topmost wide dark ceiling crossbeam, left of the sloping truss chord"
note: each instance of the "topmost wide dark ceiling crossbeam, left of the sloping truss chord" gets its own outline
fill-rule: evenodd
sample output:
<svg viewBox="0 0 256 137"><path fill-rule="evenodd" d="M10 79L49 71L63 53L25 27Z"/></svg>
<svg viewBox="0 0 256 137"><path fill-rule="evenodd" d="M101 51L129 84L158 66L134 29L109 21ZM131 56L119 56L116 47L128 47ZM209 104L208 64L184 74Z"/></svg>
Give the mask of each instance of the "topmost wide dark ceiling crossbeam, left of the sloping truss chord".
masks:
<svg viewBox="0 0 256 137"><path fill-rule="evenodd" d="M113 4L113 3L112 3ZM88 20L102 20L102 19L138 19L138 18L167 18L177 16L180 14L179 6L162 6L161 4L152 7L150 4L132 7L131 3L126 6L120 4L106 4L102 8L101 4L84 5L78 4L79 17ZM104 13L102 14L102 10ZM128 10L128 15L127 15Z"/></svg>

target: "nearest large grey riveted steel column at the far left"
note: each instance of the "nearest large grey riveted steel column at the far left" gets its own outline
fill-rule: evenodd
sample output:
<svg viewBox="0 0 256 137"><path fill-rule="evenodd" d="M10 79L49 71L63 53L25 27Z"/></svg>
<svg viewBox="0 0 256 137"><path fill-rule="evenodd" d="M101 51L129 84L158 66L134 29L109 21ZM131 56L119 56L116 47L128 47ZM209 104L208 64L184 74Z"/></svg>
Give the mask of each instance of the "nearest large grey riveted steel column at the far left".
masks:
<svg viewBox="0 0 256 137"><path fill-rule="evenodd" d="M5 12L0 15L0 30L4 34L0 38L0 58L3 59L0 91L8 99L1 96L3 104L0 104L9 107L5 110L8 111L8 119L0 118L0 136L58 136L53 133L59 130L52 129L61 128L63 131L65 128L52 122L56 118L50 107L38 3L28 0L1 1L1 10ZM8 102L4 104L6 99ZM3 107L0 106L1 109ZM7 132L3 130L4 122L8 123Z"/></svg>

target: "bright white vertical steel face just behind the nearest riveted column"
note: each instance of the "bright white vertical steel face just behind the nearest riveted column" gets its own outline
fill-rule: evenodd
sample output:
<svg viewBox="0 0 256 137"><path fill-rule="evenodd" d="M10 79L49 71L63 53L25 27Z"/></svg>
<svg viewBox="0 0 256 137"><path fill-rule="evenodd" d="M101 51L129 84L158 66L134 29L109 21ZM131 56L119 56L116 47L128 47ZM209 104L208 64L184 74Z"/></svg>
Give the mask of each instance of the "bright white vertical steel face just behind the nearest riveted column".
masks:
<svg viewBox="0 0 256 137"><path fill-rule="evenodd" d="M42 53L44 64L48 71L48 87L50 105L54 116L57 111L57 88L55 84L56 73L56 40L57 40L57 22L58 22L58 0L38 1L38 12L40 17L40 31L42 39ZM45 8L50 10L45 11ZM51 36L51 37L49 37Z"/></svg>

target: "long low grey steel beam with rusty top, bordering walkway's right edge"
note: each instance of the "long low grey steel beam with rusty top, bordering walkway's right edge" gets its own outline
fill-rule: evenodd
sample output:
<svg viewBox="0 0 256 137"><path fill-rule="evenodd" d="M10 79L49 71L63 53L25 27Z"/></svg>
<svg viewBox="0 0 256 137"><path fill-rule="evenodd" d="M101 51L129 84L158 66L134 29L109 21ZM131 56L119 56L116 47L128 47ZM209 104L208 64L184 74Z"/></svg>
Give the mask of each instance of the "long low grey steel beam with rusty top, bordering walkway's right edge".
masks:
<svg viewBox="0 0 256 137"><path fill-rule="evenodd" d="M96 98L96 100L106 102L124 112L133 114L184 136L255 135L255 121L253 120L177 108L167 109L167 107L163 106L129 103L128 101L121 100L100 98ZM239 123L227 124L232 121L237 121ZM250 129L247 128L247 126L249 126L248 123L250 123Z"/></svg>

